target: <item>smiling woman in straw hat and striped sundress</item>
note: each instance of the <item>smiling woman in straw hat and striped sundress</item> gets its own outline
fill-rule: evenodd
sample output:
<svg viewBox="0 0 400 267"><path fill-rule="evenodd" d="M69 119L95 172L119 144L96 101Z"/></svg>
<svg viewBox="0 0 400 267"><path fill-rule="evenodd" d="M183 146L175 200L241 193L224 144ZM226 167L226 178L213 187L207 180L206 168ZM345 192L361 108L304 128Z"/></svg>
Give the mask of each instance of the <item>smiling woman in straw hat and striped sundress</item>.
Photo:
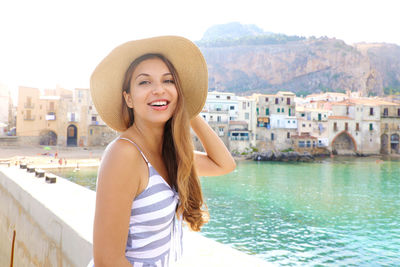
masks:
<svg viewBox="0 0 400 267"><path fill-rule="evenodd" d="M186 38L124 43L94 70L90 89L103 121L120 136L98 171L89 266L169 266L182 253L182 223L207 220L199 176L236 164L199 115L207 65ZM205 152L195 152L190 128Z"/></svg>

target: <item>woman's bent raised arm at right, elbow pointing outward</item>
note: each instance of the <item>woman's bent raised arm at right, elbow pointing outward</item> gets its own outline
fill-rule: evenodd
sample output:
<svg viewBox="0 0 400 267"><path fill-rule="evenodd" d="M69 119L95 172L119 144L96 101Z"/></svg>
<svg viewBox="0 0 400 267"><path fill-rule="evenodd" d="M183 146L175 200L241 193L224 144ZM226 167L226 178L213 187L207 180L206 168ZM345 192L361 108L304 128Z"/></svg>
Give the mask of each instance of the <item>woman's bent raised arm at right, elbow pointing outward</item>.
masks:
<svg viewBox="0 0 400 267"><path fill-rule="evenodd" d="M195 151L194 164L199 176L227 174L236 168L236 162L224 142L201 115L190 120L190 125L202 143L205 153Z"/></svg>

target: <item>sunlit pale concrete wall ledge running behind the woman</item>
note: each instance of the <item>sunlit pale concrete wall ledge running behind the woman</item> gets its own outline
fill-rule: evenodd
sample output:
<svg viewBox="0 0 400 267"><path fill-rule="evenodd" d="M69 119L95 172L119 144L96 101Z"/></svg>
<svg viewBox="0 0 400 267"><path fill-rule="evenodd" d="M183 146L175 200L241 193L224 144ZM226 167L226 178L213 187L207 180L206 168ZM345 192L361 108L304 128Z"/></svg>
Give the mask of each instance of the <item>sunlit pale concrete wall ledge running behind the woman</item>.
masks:
<svg viewBox="0 0 400 267"><path fill-rule="evenodd" d="M0 266L86 266L92 258L96 193L57 177L49 184L18 167L0 166ZM184 256L174 267L271 266L185 229Z"/></svg>

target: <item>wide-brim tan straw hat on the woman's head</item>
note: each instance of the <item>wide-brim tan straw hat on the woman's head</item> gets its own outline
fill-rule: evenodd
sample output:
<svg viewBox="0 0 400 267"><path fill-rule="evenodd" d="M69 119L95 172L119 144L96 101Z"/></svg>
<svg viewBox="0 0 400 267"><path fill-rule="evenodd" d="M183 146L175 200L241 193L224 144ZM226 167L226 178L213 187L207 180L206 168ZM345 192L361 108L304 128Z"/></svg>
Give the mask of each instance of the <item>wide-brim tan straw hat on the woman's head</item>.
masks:
<svg viewBox="0 0 400 267"><path fill-rule="evenodd" d="M174 65L181 83L185 109L190 118L202 110L208 91L207 64L200 49L180 36L160 36L124 43L96 67L90 91L96 110L112 129L127 129L122 118L122 83L130 64L144 54L161 54Z"/></svg>

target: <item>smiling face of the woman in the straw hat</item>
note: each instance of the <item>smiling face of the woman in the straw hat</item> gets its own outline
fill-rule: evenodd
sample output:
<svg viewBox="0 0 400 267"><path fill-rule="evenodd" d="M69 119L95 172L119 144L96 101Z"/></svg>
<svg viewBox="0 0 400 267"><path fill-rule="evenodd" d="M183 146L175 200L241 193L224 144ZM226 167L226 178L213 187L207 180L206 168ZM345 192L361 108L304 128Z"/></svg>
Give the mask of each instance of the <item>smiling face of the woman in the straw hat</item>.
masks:
<svg viewBox="0 0 400 267"><path fill-rule="evenodd" d="M124 97L133 108L135 122L165 123L173 115L178 101L174 78L159 58L141 62L132 74L131 90Z"/></svg>

